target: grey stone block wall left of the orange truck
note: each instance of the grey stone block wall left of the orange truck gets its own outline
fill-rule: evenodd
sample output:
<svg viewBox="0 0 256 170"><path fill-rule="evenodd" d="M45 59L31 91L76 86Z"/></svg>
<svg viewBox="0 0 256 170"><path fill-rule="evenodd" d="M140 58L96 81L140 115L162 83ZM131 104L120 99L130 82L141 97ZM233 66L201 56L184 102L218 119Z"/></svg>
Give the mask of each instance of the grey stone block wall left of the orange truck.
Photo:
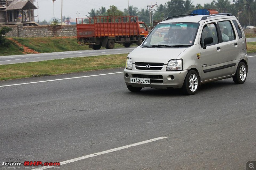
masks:
<svg viewBox="0 0 256 170"><path fill-rule="evenodd" d="M2 25L12 28L12 31L6 34L10 37L66 37L76 36L76 25L65 26L22 26ZM0 26L1 27L1 26Z"/></svg>

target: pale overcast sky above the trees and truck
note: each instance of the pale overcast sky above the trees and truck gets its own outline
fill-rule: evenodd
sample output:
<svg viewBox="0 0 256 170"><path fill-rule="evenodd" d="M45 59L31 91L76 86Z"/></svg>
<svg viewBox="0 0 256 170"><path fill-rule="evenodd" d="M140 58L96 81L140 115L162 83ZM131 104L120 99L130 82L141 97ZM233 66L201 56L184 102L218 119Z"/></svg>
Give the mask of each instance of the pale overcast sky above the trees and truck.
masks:
<svg viewBox="0 0 256 170"><path fill-rule="evenodd" d="M35 0L34 0L35 1ZM152 4L165 4L165 2L170 0L55 0L53 3L52 0L38 0L34 4L37 6L38 10L35 10L35 15L39 15L39 21L49 21L53 18L53 12L55 18L61 18L61 1L63 3L62 7L62 16L71 17L71 18L85 18L85 15L88 15L92 9L98 10L101 6L105 7L106 10L109 9L110 5L115 5L118 10L124 11L125 8L129 6L137 7L140 11L141 9L147 9L147 5ZM193 5L201 4L204 6L206 3L211 3L212 0L191 0ZM54 7L54 8L53 8ZM54 9L54 10L53 10ZM157 9L153 7L153 9ZM37 20L37 17L35 18Z"/></svg>

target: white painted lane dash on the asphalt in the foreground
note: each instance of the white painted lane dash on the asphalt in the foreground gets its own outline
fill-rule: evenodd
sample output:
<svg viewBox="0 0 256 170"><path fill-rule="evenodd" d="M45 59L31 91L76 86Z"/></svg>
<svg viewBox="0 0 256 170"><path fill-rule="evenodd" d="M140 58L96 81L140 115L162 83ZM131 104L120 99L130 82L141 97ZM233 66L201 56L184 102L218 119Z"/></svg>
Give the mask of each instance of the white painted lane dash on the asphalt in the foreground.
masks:
<svg viewBox="0 0 256 170"><path fill-rule="evenodd" d="M93 153L93 154L78 157L78 158L75 158L75 159L69 159L69 160L60 162L60 165L68 164L68 163L71 163L71 162L76 162L78 160L83 160L83 159L91 158L91 157L94 157L94 156L103 155L103 154L110 153L110 152L119 151L119 150L122 150L122 149L130 148L130 147L133 147L133 146L138 146L138 145L141 145L141 144L146 144L146 143L149 143L149 142L154 142L154 141L161 140L161 139L164 139L164 138L167 138L167 137L157 137L157 138L154 138L154 139L149 139L149 140L138 142L138 143L135 143L135 144L129 144L129 145L126 145L126 146L110 149L110 150L103 151L103 152ZM40 167L38 169L46 169L48 167L54 167L54 166L43 166L43 167Z"/></svg>

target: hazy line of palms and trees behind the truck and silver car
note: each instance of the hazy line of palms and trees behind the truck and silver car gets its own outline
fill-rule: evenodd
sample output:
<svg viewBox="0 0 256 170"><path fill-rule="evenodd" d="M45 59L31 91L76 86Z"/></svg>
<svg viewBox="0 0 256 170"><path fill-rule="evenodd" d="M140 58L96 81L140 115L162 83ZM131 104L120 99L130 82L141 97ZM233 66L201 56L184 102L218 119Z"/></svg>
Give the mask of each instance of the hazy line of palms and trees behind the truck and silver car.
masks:
<svg viewBox="0 0 256 170"><path fill-rule="evenodd" d="M108 10L105 7L98 10L92 9L88 12L87 17L132 15L138 16L140 20L150 25L151 17L153 17L151 20L161 21L168 14L168 16L189 14L196 9L216 9L219 13L232 13L239 19L242 26L256 26L256 0L233 0L232 4L229 0L213 0L211 3L204 5L194 5L191 0L171 0L153 8L142 8L140 11L134 6L129 6L128 9L120 11L115 5L110 5ZM150 17L149 11L151 11Z"/></svg>

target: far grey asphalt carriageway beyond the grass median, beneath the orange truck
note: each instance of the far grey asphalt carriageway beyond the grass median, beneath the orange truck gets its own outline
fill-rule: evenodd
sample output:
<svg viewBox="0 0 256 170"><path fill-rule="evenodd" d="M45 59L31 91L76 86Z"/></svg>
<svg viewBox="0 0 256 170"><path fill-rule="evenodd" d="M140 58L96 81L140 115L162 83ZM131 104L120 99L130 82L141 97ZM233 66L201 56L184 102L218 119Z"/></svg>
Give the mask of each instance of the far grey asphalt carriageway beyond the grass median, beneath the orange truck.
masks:
<svg viewBox="0 0 256 170"><path fill-rule="evenodd" d="M256 38L247 38L246 41L254 42L256 41ZM36 62L36 61L54 60L54 59L63 59L63 58L73 58L73 57L86 57L86 56L94 56L94 55L124 54L124 53L132 52L134 48L136 47L100 49L100 50L65 51L65 52L55 52L55 53L26 54L26 55L7 55L7 56L0 56L0 65Z"/></svg>

